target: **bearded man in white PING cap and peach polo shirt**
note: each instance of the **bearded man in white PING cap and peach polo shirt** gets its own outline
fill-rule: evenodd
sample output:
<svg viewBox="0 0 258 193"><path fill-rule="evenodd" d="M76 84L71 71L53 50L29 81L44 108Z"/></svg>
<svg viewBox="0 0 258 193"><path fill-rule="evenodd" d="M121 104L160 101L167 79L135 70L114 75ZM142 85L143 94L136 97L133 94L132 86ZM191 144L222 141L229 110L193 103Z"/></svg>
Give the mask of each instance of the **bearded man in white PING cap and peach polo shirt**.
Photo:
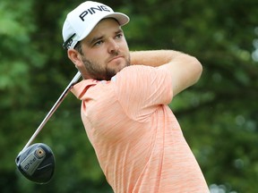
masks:
<svg viewBox="0 0 258 193"><path fill-rule="evenodd" d="M129 18L85 2L68 13L64 47L83 80L82 122L115 192L209 192L168 104L199 80L202 65L171 50L129 52Z"/></svg>

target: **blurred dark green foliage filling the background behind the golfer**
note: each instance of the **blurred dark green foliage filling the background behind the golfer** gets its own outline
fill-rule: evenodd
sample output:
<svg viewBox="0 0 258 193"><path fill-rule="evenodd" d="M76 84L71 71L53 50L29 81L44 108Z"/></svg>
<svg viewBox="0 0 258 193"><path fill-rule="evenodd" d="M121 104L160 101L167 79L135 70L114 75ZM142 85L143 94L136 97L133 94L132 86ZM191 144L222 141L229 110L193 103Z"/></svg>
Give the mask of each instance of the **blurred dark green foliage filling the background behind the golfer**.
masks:
<svg viewBox="0 0 258 193"><path fill-rule="evenodd" d="M131 50L176 49L196 56L202 79L171 108L211 192L258 189L258 17L256 0L101 1L131 17ZM34 142L56 155L46 185L24 179L14 159L76 71L62 49L66 14L82 1L0 1L0 189L112 192L69 94Z"/></svg>

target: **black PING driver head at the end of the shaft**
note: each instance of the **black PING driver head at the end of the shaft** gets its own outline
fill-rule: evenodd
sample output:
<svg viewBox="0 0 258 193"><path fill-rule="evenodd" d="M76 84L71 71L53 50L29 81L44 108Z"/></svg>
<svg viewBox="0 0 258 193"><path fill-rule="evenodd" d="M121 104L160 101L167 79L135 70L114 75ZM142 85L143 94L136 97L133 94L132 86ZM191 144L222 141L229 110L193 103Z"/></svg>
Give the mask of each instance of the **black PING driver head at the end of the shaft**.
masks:
<svg viewBox="0 0 258 193"><path fill-rule="evenodd" d="M25 178L39 184L47 183L55 172L55 156L51 148L43 143L23 149L15 163Z"/></svg>

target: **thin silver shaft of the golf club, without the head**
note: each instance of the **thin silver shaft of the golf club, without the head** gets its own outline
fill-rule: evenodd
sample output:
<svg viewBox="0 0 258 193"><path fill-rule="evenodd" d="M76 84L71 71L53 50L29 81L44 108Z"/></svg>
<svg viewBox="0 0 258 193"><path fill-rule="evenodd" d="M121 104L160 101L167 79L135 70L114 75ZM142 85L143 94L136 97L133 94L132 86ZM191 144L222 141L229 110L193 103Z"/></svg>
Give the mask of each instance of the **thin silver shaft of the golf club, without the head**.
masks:
<svg viewBox="0 0 258 193"><path fill-rule="evenodd" d="M61 96L59 96L59 98L56 100L56 104L53 105L53 107L50 109L50 111L47 113L45 119L39 124L38 129L34 132L34 134L31 136L30 140L28 141L28 143L25 145L25 147L23 147L22 150L24 150L25 148L29 147L31 142L38 136L40 130L42 130L42 128L45 126L45 124L47 123L47 121L50 119L50 117L52 116L53 113L56 112L56 109L58 108L58 106L63 102L65 96L67 96L68 92L70 91L70 89L73 87L73 85L81 78L81 72L78 71L76 73L76 75L73 77L73 80L71 80L71 82L69 83L69 85L64 89L64 92L62 93Z"/></svg>

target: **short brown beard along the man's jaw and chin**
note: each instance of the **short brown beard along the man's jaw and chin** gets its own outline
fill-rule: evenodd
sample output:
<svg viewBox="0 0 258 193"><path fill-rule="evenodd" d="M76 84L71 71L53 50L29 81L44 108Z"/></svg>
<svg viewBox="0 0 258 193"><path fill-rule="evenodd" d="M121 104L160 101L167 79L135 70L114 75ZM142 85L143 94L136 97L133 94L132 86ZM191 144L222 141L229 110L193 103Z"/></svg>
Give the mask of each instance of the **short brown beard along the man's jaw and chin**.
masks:
<svg viewBox="0 0 258 193"><path fill-rule="evenodd" d="M111 80L111 78L113 76L115 76L118 71L121 71L126 66L129 66L131 63L131 60L130 60L130 55L129 55L128 58L125 58L124 66L122 66L121 69L118 69L118 70L115 68L110 68L107 65L105 65L103 67L103 65L101 65L98 62L93 62L93 61L88 60L84 55L82 55L82 63L84 64L91 79Z"/></svg>

